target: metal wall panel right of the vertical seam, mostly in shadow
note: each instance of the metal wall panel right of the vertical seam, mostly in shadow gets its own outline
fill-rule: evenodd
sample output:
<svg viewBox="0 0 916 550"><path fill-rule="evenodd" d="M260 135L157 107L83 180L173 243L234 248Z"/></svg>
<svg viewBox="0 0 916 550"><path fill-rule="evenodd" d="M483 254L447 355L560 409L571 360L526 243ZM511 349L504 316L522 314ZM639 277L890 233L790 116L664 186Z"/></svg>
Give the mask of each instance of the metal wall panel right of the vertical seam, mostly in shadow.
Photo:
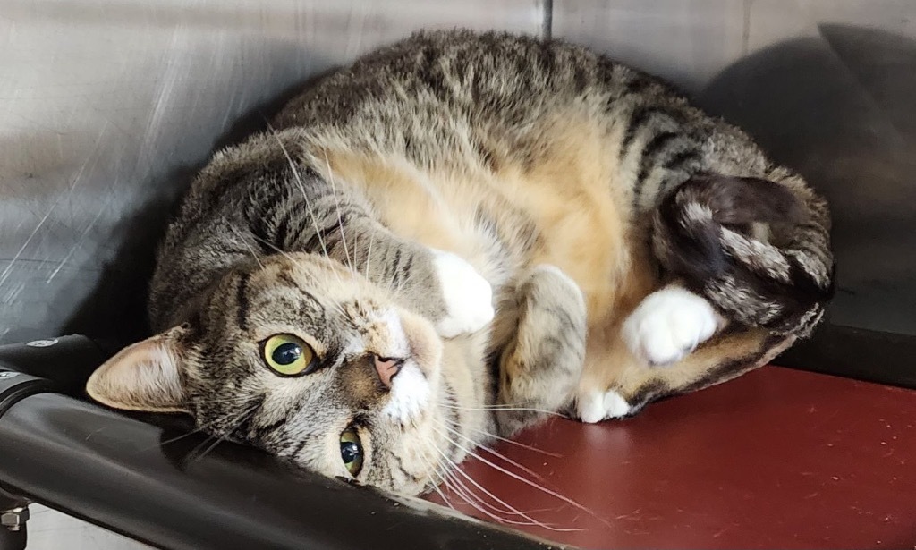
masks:
<svg viewBox="0 0 916 550"><path fill-rule="evenodd" d="M680 84L831 200L836 325L916 334L916 3L555 2L552 35Z"/></svg>

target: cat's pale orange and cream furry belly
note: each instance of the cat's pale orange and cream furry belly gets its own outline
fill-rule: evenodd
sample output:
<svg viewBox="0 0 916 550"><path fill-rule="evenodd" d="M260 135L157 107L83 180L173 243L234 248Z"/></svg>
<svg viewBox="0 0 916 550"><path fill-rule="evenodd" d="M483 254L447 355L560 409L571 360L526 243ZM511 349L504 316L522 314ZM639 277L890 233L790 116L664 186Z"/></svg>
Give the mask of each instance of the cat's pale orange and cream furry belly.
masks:
<svg viewBox="0 0 916 550"><path fill-rule="evenodd" d="M582 289L590 322L649 277L631 235L629 197L613 140L590 124L551 125L551 146L524 166L471 163L420 170L403 157L330 152L333 171L360 186L393 232L463 256L494 286L534 264L562 269ZM583 137L584 136L584 137ZM629 301L629 300L627 300Z"/></svg>

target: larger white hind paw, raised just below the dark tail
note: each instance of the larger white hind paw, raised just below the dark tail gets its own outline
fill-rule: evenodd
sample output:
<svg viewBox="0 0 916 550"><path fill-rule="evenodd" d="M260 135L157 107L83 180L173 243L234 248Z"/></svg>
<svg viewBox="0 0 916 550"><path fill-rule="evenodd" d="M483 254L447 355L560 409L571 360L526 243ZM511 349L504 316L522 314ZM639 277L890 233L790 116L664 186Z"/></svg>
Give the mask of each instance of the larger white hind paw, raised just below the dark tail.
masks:
<svg viewBox="0 0 916 550"><path fill-rule="evenodd" d="M709 340L718 327L703 297L671 286L653 292L630 314L623 336L629 349L654 365L681 360Z"/></svg>

